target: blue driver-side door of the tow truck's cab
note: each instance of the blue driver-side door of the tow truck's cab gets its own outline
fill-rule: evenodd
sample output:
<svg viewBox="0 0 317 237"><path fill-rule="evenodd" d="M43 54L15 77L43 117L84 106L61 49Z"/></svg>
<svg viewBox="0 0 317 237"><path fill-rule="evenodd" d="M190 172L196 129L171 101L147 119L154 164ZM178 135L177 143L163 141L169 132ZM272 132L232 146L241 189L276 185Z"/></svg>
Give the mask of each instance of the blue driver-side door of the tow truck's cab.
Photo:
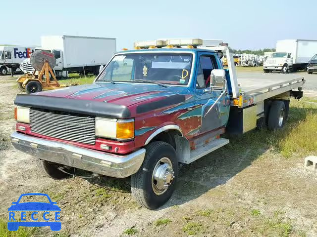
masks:
<svg viewBox="0 0 317 237"><path fill-rule="evenodd" d="M201 106L201 126L196 135L225 126L229 118L229 96L226 94L222 95L210 110L222 93L220 90L211 90L210 86L211 71L222 69L219 62L220 60L216 60L215 54L199 53L198 55L194 99L195 105Z"/></svg>

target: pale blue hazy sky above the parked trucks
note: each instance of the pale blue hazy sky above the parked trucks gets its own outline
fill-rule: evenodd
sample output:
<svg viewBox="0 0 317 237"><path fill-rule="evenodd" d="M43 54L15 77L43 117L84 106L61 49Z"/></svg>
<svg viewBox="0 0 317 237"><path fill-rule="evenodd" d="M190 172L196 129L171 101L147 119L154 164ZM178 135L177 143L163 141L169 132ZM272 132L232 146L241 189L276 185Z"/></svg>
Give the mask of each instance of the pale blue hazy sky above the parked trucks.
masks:
<svg viewBox="0 0 317 237"><path fill-rule="evenodd" d="M219 39L235 49L317 40L316 0L2 0L0 44L40 45L44 35L135 40Z"/></svg>

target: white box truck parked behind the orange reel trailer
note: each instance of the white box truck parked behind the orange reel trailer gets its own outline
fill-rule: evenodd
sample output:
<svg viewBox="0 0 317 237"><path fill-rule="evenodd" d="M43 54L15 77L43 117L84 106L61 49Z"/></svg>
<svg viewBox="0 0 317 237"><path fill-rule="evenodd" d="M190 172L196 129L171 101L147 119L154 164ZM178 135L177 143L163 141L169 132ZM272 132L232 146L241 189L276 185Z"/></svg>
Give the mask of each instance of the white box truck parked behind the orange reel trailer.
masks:
<svg viewBox="0 0 317 237"><path fill-rule="evenodd" d="M56 58L53 68L56 77L66 77L68 73L99 74L100 66L106 65L116 52L115 38L82 36L43 36L41 47ZM22 63L21 70L32 74L34 69L30 60Z"/></svg>

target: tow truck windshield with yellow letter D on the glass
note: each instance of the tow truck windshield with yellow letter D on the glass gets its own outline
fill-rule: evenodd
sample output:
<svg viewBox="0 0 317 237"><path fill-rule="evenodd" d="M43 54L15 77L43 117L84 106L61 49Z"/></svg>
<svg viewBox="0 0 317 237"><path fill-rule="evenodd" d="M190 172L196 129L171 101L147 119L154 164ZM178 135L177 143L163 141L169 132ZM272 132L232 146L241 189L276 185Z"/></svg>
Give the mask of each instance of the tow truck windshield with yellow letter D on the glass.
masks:
<svg viewBox="0 0 317 237"><path fill-rule="evenodd" d="M113 57L96 81L148 82L187 85L190 53L131 53Z"/></svg>

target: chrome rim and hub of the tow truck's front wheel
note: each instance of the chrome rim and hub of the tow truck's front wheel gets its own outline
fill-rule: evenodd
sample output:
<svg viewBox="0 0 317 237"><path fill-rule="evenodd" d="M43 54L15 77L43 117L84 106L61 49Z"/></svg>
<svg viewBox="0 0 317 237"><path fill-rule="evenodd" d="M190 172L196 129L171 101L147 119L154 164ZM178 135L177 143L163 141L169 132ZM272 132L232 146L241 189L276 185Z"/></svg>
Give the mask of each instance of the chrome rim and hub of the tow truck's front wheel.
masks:
<svg viewBox="0 0 317 237"><path fill-rule="evenodd" d="M169 158L161 158L154 167L152 189L156 195L162 195L172 184L174 176L172 162Z"/></svg>

